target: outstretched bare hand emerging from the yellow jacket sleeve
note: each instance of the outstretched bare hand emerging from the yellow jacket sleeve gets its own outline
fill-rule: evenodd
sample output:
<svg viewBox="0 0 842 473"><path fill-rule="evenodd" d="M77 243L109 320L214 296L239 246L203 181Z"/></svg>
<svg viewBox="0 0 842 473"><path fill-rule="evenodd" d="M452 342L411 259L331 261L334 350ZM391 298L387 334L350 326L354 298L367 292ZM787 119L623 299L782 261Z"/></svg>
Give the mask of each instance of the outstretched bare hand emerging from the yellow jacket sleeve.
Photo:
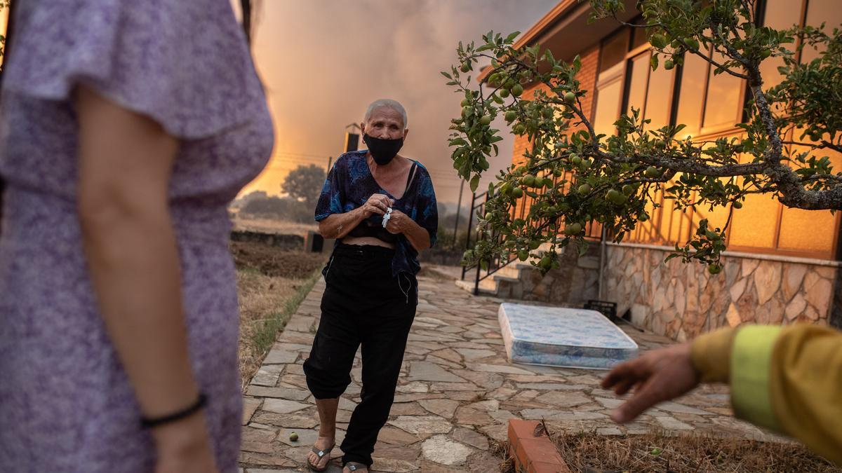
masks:
<svg viewBox="0 0 842 473"><path fill-rule="evenodd" d="M618 364L602 380L602 387L613 389L620 396L635 388L632 398L611 414L614 422L628 423L658 402L692 390L700 380L690 357L690 343L682 343Z"/></svg>

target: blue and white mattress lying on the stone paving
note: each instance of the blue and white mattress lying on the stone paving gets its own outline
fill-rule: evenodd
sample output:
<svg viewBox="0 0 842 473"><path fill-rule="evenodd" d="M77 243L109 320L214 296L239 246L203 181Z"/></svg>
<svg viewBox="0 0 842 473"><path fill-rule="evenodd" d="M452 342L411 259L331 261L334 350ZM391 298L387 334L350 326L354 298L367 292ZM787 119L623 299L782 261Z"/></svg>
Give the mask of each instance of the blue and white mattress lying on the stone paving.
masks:
<svg viewBox="0 0 842 473"><path fill-rule="evenodd" d="M637 343L598 311L507 302L498 320L515 363L610 369L637 357Z"/></svg>

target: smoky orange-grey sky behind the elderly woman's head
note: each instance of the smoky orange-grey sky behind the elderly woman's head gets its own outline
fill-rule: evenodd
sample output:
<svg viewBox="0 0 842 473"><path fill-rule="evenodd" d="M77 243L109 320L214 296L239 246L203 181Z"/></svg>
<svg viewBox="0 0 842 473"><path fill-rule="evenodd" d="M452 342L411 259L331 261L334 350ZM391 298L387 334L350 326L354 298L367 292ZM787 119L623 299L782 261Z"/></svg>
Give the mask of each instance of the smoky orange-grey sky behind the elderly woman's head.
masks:
<svg viewBox="0 0 842 473"><path fill-rule="evenodd" d="M455 202L460 180L446 139L450 119L460 113L461 96L445 85L440 71L456 63L460 40L478 43L489 29L525 31L556 3L255 1L253 54L276 136L269 167L242 194L280 194L280 183L293 167L326 167L328 157L342 150L345 126L359 124L376 98L394 98L408 113L409 135L401 154L428 167L440 201ZM501 130L506 140L487 179L511 162L511 135Z"/></svg>

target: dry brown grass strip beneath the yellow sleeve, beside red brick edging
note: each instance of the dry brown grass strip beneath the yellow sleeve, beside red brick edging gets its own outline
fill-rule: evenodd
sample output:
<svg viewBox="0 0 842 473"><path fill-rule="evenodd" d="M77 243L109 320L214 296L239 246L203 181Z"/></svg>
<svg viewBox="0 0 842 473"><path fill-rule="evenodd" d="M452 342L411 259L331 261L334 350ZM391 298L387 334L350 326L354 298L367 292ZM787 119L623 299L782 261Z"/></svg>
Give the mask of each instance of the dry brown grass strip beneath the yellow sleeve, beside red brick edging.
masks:
<svg viewBox="0 0 842 473"><path fill-rule="evenodd" d="M802 445L794 443L714 438L697 434L669 436L657 432L627 437L561 433L553 434L552 438L573 471L842 471Z"/></svg>

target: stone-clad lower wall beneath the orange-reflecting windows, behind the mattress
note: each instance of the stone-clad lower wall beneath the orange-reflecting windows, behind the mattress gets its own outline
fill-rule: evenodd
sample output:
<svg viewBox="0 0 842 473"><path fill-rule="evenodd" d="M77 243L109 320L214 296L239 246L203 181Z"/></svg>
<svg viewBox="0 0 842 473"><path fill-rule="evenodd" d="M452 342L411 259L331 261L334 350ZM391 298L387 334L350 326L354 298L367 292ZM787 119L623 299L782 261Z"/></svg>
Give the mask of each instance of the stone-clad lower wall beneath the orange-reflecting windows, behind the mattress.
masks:
<svg viewBox="0 0 842 473"><path fill-rule="evenodd" d="M679 258L664 263L663 248L606 250L605 299L617 302L618 315L631 310L632 322L679 341L743 322L840 321L833 266L729 255L711 275Z"/></svg>

